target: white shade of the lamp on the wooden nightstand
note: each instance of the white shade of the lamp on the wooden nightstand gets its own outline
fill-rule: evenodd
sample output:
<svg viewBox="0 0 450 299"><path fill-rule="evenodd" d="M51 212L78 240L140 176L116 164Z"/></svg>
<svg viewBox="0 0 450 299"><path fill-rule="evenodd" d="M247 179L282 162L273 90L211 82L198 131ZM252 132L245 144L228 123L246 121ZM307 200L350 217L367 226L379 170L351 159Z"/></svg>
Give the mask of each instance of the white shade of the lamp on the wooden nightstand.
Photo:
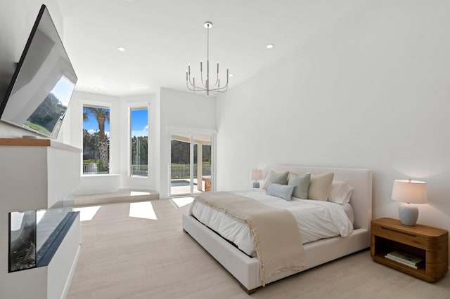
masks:
<svg viewBox="0 0 450 299"><path fill-rule="evenodd" d="M427 183L420 180L394 180L392 199L409 204L426 204Z"/></svg>

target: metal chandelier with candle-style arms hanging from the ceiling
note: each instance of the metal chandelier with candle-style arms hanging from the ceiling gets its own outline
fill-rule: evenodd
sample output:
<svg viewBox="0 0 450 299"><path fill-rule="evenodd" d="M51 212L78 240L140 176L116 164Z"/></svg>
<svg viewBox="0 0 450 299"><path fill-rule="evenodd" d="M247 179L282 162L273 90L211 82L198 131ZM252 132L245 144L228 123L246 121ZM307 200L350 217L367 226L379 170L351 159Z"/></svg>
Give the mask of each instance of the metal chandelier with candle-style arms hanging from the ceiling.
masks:
<svg viewBox="0 0 450 299"><path fill-rule="evenodd" d="M195 91L198 93L205 92L206 95L210 93L217 95L218 93L224 93L228 89L228 78L229 72L228 67L226 68L226 84L220 86L219 78L219 62L217 62L217 74L214 84L210 81L210 28L212 27L212 22L205 22L203 26L206 28L206 77L203 76L203 63L200 60L200 84L195 85L195 76L191 79L191 65L188 65L188 70L186 71L186 86L188 90ZM198 83L198 81L197 81Z"/></svg>

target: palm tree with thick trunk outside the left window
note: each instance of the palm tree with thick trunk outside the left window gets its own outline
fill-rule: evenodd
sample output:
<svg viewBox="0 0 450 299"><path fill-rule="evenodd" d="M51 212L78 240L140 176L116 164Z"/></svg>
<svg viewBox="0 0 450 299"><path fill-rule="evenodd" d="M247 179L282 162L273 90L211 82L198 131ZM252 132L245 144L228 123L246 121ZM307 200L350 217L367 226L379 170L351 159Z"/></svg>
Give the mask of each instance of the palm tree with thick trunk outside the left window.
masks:
<svg viewBox="0 0 450 299"><path fill-rule="evenodd" d="M109 172L108 140L105 134L105 122L110 121L110 111L105 108L83 107L83 121L95 117L98 123L98 152L103 168Z"/></svg>

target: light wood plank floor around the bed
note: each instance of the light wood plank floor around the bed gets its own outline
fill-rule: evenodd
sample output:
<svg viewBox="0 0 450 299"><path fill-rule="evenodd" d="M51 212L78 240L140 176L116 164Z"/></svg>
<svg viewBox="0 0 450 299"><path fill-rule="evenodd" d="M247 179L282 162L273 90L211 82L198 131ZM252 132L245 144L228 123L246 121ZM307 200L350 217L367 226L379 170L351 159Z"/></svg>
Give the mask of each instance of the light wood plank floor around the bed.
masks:
<svg viewBox="0 0 450 299"><path fill-rule="evenodd" d="M450 274L435 284L371 260L369 251L260 288L249 296L181 229L179 208L151 201L155 216L129 217L130 204L106 204L82 222L73 298L450 298ZM146 209L151 209L147 206ZM333 248L330 248L333 250Z"/></svg>

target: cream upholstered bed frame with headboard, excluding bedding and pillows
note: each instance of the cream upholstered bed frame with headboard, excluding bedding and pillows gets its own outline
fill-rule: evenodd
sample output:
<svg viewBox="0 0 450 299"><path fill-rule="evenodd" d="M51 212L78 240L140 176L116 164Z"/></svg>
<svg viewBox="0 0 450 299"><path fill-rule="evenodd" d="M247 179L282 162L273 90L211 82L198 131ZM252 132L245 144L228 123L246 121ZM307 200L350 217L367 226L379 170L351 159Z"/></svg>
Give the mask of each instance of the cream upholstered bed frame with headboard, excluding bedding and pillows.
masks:
<svg viewBox="0 0 450 299"><path fill-rule="evenodd" d="M269 277L266 284L370 246L369 227L372 218L372 173L370 170L293 165L274 166L271 170L276 173L291 171L292 173L311 173L315 175L333 172L333 180L347 182L354 188L350 199L354 229L347 237L330 237L304 244L304 258L306 261L304 267L300 270L278 272ZM239 281L240 286L245 291L254 293L257 288L262 286L258 258L243 253L236 246L226 241L188 213L182 216L182 223L184 231L190 234L200 246L203 246L210 255L225 267ZM333 250L330 250L331 248Z"/></svg>

